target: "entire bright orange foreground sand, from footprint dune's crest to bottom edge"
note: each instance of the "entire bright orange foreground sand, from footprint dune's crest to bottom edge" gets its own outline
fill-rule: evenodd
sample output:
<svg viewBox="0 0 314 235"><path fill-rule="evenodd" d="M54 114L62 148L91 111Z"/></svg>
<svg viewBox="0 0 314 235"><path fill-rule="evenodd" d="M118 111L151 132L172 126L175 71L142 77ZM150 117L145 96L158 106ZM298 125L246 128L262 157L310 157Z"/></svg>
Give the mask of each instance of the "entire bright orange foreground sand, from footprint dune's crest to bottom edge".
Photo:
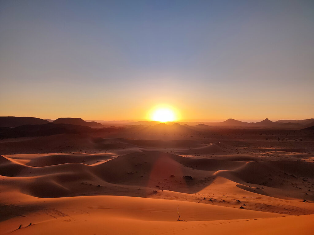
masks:
<svg viewBox="0 0 314 235"><path fill-rule="evenodd" d="M122 196L27 199L41 210L0 222L3 234L309 234L314 219Z"/></svg>

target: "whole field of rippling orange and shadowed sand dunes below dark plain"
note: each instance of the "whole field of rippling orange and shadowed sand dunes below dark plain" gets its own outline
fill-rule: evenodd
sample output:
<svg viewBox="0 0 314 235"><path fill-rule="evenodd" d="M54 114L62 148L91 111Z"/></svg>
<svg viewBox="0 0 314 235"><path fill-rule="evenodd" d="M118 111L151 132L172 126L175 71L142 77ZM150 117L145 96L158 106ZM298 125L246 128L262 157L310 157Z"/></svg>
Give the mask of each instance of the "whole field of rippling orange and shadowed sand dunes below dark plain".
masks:
<svg viewBox="0 0 314 235"><path fill-rule="evenodd" d="M312 234L302 138L3 140L0 234Z"/></svg>

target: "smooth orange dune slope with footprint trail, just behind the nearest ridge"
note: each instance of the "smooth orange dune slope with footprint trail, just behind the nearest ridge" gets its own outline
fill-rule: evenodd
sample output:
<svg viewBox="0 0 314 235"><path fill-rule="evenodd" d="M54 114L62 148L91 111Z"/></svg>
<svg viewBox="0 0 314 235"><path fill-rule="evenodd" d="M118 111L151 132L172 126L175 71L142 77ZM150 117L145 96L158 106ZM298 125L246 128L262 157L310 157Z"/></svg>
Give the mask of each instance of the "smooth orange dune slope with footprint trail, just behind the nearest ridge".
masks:
<svg viewBox="0 0 314 235"><path fill-rule="evenodd" d="M206 205L188 201L174 201L126 196L82 196L66 198L35 198L25 196L24 203L19 207L9 205L5 208L16 213L23 207L29 210L23 217L13 217L0 223L4 232L12 232L15 221L37 224L51 223L51 218L63 221L75 221L76 217L90 217L133 220L142 222L191 222L216 221L252 218L283 217L282 214L257 212L228 208L224 206ZM79 206L78 206L79 205ZM6 211L3 210L5 213ZM26 222L30 221L30 222ZM60 222L60 221L59 221ZM25 228L25 230L28 227Z"/></svg>

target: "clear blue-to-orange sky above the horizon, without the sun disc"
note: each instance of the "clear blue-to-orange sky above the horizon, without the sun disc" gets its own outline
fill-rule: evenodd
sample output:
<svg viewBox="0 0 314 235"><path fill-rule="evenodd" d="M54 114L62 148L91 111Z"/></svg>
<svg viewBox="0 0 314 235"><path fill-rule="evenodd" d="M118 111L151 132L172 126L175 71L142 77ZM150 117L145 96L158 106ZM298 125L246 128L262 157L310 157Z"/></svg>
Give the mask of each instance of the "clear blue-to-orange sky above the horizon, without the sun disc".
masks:
<svg viewBox="0 0 314 235"><path fill-rule="evenodd" d="M0 0L0 116L314 118L314 1Z"/></svg>

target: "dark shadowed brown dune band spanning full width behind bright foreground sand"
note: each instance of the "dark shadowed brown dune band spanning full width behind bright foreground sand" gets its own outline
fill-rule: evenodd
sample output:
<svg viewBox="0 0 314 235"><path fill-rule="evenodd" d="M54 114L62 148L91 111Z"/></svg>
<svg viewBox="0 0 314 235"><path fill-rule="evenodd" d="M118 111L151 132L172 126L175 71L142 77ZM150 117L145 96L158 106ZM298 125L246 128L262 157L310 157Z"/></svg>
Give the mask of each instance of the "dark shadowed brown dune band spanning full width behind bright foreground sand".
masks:
<svg viewBox="0 0 314 235"><path fill-rule="evenodd" d="M310 187L314 179L314 164L308 162L194 159L157 151L126 154L95 165L85 164L101 158L109 157L49 155L22 165L1 156L0 175L11 177L10 180L17 181L15 185L20 190L36 197L127 193L147 196L158 190L195 193L210 185L217 176L243 185L274 188L286 187L287 180L291 184L299 182L302 177L303 186L308 184ZM28 166L35 161L38 167ZM248 187L244 189L252 191ZM263 191L253 192L265 194Z"/></svg>

